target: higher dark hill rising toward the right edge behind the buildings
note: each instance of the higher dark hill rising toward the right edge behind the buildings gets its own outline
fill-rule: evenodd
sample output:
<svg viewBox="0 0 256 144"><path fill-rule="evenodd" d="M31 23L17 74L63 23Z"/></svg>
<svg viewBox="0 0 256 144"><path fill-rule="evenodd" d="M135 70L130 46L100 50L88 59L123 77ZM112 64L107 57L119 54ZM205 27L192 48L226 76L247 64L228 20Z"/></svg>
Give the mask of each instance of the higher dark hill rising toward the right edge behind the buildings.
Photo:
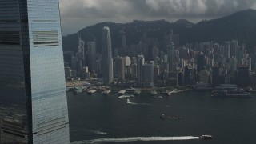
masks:
<svg viewBox="0 0 256 144"><path fill-rule="evenodd" d="M182 42L238 39L247 46L256 46L255 23L256 10L239 11L224 18L198 22L192 29L182 31Z"/></svg>

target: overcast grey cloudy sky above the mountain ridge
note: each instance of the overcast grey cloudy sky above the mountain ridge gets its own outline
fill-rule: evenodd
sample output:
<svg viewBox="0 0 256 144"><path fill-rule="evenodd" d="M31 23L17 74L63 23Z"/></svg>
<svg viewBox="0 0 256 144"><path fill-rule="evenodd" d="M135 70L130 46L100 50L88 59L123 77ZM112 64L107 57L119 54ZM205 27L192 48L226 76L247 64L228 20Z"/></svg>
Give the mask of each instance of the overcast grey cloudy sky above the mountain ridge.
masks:
<svg viewBox="0 0 256 144"><path fill-rule="evenodd" d="M74 34L98 22L166 19L191 22L256 9L256 0L59 0L62 34Z"/></svg>

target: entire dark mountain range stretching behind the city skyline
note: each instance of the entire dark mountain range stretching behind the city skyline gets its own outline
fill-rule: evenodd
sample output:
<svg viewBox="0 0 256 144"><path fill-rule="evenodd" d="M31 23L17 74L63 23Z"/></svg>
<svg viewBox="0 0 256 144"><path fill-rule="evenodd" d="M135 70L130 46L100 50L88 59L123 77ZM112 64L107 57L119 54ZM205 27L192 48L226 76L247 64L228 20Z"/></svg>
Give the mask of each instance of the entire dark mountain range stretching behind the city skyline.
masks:
<svg viewBox="0 0 256 144"><path fill-rule="evenodd" d="M98 52L102 45L103 26L110 27L113 50L115 47L122 46L122 34L126 34L127 45L130 45L138 43L144 31L147 32L148 37L162 39L164 34L170 33L170 30L174 30L174 34L180 34L181 44L238 39L238 42L245 43L250 48L256 46L256 10L243 10L224 18L202 21L197 24L184 19L173 23L165 20L134 20L134 22L124 24L102 22L80 30L78 33L86 42L96 40ZM62 38L64 51L77 50L78 33Z"/></svg>

